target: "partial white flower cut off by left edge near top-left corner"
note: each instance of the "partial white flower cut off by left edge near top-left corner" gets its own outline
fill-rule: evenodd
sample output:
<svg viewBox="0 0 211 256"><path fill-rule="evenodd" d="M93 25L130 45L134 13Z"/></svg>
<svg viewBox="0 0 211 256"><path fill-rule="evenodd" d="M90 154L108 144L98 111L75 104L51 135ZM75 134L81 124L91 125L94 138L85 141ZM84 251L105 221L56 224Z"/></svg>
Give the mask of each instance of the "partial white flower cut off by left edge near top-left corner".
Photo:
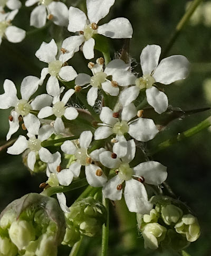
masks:
<svg viewBox="0 0 211 256"><path fill-rule="evenodd" d="M18 10L14 10L8 13L0 12L0 44L2 43L2 38L5 37L11 43L21 42L26 32L25 30L19 29L11 24Z"/></svg>

